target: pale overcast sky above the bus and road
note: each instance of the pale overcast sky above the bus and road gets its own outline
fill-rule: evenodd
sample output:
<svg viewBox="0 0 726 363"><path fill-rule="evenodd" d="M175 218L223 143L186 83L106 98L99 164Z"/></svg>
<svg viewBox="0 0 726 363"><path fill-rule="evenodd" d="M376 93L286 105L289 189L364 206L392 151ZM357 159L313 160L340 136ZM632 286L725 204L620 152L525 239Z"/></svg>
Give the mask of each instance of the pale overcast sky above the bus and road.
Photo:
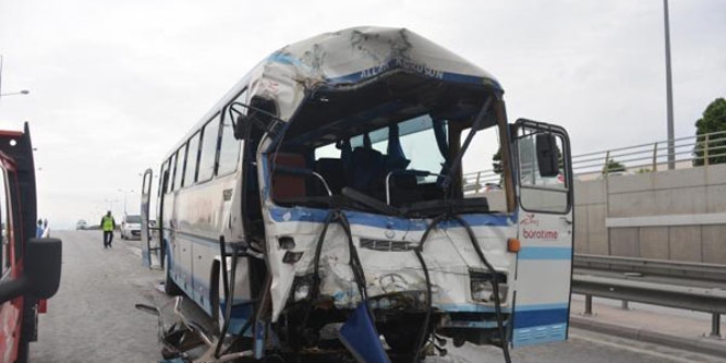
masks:
<svg viewBox="0 0 726 363"><path fill-rule="evenodd" d="M726 1L671 0L675 136L726 97ZM574 154L664 140L661 0L0 1L0 129L31 123L55 228L139 209L141 177L273 51L403 26L479 64L512 121L564 125ZM484 168L491 165L483 165ZM122 191L119 191L122 190ZM134 190L131 193L130 190Z"/></svg>

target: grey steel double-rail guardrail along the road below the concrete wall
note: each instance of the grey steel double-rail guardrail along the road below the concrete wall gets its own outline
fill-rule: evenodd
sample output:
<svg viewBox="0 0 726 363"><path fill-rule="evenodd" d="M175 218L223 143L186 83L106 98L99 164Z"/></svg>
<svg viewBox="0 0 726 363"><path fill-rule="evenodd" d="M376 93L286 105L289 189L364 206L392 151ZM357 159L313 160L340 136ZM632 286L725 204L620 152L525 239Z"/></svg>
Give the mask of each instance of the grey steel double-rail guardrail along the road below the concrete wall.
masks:
<svg viewBox="0 0 726 363"><path fill-rule="evenodd" d="M592 315L593 296L617 299L627 308L628 301L702 311L712 315L711 337L721 338L721 315L726 314L726 290L694 287L688 280L726 283L726 266L662 260L615 256L575 255L575 267L606 272L637 273L681 278L683 284L575 274L572 292L585 296L585 315Z"/></svg>

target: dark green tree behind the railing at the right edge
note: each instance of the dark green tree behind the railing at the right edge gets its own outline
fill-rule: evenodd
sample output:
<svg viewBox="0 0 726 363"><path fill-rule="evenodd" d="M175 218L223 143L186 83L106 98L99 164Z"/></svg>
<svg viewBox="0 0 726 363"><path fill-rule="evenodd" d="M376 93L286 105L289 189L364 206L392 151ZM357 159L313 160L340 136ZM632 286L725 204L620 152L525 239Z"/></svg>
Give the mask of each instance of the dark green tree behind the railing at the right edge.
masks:
<svg viewBox="0 0 726 363"><path fill-rule="evenodd" d="M726 100L724 98L717 98L711 102L703 111L703 117L696 121L696 145L693 147L693 155L696 157L693 160L693 166L704 165L706 150L708 151L708 164L726 163L726 134L710 136L707 141L705 136L707 133L719 131L726 131Z"/></svg>

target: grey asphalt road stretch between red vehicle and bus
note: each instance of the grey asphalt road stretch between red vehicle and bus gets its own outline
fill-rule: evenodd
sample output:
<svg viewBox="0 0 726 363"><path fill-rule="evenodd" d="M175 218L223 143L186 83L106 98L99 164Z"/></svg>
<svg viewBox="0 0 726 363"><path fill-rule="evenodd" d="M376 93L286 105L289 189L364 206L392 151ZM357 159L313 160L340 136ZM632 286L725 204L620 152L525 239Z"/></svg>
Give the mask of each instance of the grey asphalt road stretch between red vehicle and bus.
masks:
<svg viewBox="0 0 726 363"><path fill-rule="evenodd" d="M116 233L103 249L100 231L53 232L63 240L61 289L40 317L31 362L158 362L156 319L136 302L164 304L156 290L162 273L141 266L139 242Z"/></svg>

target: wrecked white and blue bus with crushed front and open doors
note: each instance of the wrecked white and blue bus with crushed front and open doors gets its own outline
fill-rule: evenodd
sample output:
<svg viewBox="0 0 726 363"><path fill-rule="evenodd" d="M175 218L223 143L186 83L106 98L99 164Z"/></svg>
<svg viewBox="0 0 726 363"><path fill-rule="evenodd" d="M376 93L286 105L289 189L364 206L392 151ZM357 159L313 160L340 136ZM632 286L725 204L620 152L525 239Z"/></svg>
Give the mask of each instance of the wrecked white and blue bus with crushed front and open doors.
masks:
<svg viewBox="0 0 726 363"><path fill-rule="evenodd" d="M322 34L242 78L161 166L166 290L219 321L209 361L565 340L568 135L509 124L503 94L405 29ZM494 154L502 190L464 197Z"/></svg>

